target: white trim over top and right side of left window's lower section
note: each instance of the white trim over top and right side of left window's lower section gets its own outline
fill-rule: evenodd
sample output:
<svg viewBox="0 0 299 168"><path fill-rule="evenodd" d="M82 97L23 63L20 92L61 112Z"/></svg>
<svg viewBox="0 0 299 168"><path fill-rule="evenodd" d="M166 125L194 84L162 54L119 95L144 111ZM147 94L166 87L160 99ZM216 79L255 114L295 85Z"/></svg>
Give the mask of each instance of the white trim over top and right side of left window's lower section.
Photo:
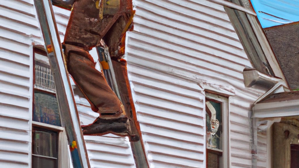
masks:
<svg viewBox="0 0 299 168"><path fill-rule="evenodd" d="M58 168L69 168L70 158L68 154L68 140L65 134L65 129L60 126L54 126L51 124L40 123L32 121L32 127L45 128L49 130L55 130L58 132ZM31 154L33 155L33 154Z"/></svg>

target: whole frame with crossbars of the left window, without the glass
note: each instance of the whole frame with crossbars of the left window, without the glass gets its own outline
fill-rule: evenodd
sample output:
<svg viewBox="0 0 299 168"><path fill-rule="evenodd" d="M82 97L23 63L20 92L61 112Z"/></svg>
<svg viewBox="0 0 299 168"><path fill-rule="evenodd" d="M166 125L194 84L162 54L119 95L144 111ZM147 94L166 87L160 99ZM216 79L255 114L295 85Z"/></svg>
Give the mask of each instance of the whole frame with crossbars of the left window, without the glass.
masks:
<svg viewBox="0 0 299 168"><path fill-rule="evenodd" d="M37 46L33 46L33 81L32 81L32 85L33 85L33 89L32 89L32 118L31 118L31 150L33 150L33 129L44 129L44 130L50 130L50 131L55 131L57 132L57 139L58 139L58 148L57 148L57 152L58 152L58 156L57 156L57 164L58 164L58 168L69 168L70 167L70 158L69 158L69 145L68 145L68 140L66 137L66 132L65 132L65 128L61 127L61 126L55 126L55 125L51 125L51 124L47 124L47 123L41 123L41 122L37 122L37 121L33 121L33 112L34 112L34 93L40 92L40 93L44 93L44 94L49 94L49 95L54 95L56 97L56 91L52 91L46 88L40 88L38 86L35 85L35 54L40 54L43 56L47 56L47 53L42 49L43 46L37 45ZM59 110L59 109L58 109ZM33 156L33 151L31 151L31 155L30 155L30 162L31 162L31 167L32 167L32 156Z"/></svg>

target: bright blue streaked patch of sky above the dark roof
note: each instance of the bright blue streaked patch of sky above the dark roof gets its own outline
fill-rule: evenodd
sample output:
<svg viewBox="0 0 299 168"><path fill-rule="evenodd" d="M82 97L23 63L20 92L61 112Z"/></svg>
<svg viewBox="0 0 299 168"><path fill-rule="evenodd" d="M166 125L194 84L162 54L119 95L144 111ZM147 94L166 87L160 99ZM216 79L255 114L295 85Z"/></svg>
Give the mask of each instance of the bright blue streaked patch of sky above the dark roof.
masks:
<svg viewBox="0 0 299 168"><path fill-rule="evenodd" d="M263 28L299 21L299 0L251 0Z"/></svg>

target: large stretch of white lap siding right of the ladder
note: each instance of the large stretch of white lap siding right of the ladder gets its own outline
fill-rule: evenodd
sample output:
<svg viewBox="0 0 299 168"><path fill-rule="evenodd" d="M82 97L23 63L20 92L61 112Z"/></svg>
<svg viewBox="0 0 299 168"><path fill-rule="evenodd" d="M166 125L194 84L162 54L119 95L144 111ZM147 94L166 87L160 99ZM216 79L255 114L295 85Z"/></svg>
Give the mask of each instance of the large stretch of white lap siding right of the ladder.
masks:
<svg viewBox="0 0 299 168"><path fill-rule="evenodd" d="M223 6L190 0L134 5L126 59L150 167L205 167L207 85L234 93L231 164L251 167L248 113L264 91L244 87L242 71L252 65Z"/></svg>

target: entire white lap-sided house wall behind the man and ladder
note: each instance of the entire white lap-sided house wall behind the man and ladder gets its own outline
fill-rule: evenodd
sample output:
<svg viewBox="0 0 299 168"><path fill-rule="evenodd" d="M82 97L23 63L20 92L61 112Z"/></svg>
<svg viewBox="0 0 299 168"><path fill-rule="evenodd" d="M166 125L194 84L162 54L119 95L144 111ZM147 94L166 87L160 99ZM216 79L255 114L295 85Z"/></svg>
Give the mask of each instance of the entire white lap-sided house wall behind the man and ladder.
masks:
<svg viewBox="0 0 299 168"><path fill-rule="evenodd" d="M228 96L231 167L251 167L251 67L223 6L134 0L128 75L150 167L205 167L205 90ZM54 8L60 39L69 11ZM0 1L0 167L31 167L33 45L43 45L33 0ZM75 96L76 98L77 96ZM82 123L88 104L76 98ZM89 117L86 117L89 116ZM129 142L85 136L91 167L135 167Z"/></svg>

